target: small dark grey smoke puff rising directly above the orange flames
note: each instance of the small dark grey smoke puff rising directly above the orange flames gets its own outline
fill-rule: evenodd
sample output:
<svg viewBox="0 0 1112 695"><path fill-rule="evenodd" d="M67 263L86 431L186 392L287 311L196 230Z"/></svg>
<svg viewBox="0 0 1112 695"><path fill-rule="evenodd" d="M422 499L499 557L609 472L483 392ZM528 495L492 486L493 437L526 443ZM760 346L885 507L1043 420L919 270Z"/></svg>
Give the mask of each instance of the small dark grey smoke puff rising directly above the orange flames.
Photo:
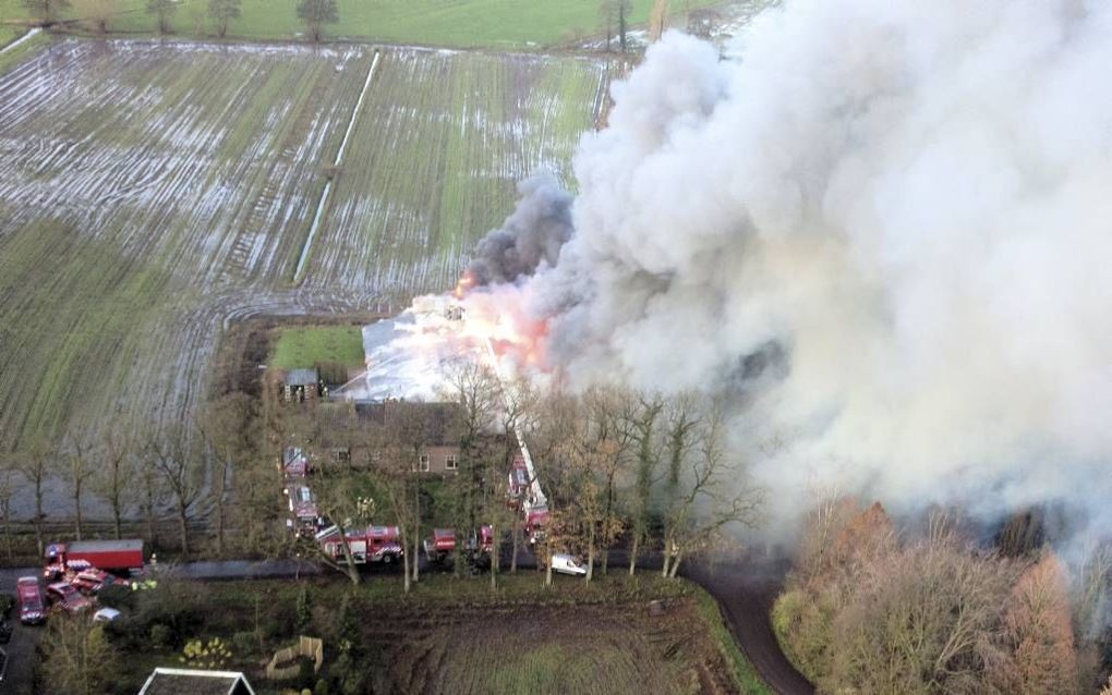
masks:
<svg viewBox="0 0 1112 695"><path fill-rule="evenodd" d="M553 266L572 238L572 196L555 178L536 175L518 183L517 190L522 197L514 212L475 249L468 270L476 285L513 282L533 275L542 264Z"/></svg>

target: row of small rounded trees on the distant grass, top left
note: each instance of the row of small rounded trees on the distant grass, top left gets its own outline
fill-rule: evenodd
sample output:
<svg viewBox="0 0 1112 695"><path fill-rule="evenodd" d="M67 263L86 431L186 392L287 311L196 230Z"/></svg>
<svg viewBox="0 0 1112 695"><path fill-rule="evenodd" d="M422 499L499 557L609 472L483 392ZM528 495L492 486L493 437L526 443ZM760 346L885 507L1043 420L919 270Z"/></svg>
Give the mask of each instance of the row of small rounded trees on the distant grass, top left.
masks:
<svg viewBox="0 0 1112 695"><path fill-rule="evenodd" d="M82 21L93 31L105 33L112 19L121 14L119 0L22 0L23 7L43 24L60 21L73 10L76 21ZM217 36L224 38L228 26L241 16L241 0L208 0L207 14ZM155 17L159 33L172 31L171 19L181 9L178 0L147 0L147 12ZM339 21L336 0L298 0L297 17L305 24L314 41L320 41L326 24ZM201 27L197 28L200 32Z"/></svg>

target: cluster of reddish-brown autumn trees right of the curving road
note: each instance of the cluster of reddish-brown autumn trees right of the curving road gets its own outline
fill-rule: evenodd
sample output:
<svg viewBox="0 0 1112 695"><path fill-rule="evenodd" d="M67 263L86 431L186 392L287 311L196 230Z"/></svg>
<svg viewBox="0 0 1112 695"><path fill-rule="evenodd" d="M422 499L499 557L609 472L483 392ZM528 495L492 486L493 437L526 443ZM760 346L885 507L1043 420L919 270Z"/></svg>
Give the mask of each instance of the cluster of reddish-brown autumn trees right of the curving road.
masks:
<svg viewBox="0 0 1112 695"><path fill-rule="evenodd" d="M903 539L883 507L851 499L823 502L810 522L773 622L821 691L1095 689L1099 657L1079 628L1095 606L1075 600L1083 592L1049 549L975 548L939 514L922 537Z"/></svg>

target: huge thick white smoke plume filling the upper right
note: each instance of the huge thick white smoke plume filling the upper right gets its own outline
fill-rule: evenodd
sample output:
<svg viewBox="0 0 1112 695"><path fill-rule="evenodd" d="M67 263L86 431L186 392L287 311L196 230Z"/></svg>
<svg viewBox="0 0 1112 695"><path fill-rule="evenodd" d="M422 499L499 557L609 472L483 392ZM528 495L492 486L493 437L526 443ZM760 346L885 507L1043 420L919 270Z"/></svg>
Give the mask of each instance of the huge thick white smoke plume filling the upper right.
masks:
<svg viewBox="0 0 1112 695"><path fill-rule="evenodd" d="M741 62L668 34L558 262L493 291L573 383L743 396L777 505L1112 506L1110 77L1082 0L785 0Z"/></svg>

